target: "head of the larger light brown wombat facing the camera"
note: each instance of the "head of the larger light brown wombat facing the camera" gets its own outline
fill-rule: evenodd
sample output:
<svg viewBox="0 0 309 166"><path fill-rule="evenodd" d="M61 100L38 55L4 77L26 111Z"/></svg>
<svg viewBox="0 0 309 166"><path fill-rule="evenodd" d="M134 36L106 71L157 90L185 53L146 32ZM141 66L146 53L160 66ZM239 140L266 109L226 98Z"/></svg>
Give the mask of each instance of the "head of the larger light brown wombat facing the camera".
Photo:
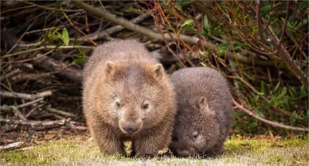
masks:
<svg viewBox="0 0 309 166"><path fill-rule="evenodd" d="M162 64L106 62L103 71L102 97L104 107L109 108L108 123L134 135L163 119L173 92Z"/></svg>

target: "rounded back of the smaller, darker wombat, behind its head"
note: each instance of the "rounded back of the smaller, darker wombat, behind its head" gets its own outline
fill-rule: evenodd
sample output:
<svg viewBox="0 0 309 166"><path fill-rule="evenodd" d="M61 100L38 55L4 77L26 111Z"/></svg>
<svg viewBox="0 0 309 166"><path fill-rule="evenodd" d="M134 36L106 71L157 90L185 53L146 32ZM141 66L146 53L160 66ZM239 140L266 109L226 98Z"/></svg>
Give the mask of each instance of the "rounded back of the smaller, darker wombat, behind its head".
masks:
<svg viewBox="0 0 309 166"><path fill-rule="evenodd" d="M227 80L220 72L208 67L185 68L173 73L172 82L177 92L179 111L186 110L186 104L193 105L198 99L206 97L210 107L216 110L216 117L222 126L221 133L228 134L234 112L232 95ZM186 116L195 115L189 113Z"/></svg>

